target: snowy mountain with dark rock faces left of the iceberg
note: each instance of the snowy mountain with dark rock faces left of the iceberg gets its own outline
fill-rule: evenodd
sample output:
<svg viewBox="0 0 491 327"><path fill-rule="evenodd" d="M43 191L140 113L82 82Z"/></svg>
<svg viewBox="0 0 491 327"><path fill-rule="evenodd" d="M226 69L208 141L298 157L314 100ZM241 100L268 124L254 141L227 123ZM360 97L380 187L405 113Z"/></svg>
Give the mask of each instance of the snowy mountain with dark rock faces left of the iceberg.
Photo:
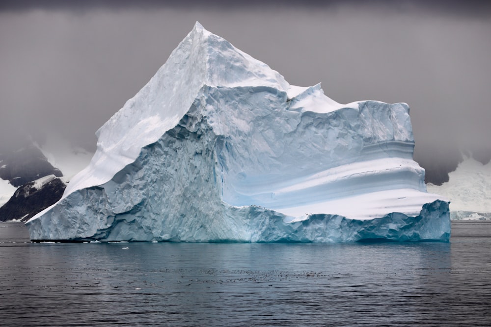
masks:
<svg viewBox="0 0 491 327"><path fill-rule="evenodd" d="M0 151L0 221L27 220L54 204L90 162L90 153L59 136L48 135L42 145L19 139Z"/></svg>

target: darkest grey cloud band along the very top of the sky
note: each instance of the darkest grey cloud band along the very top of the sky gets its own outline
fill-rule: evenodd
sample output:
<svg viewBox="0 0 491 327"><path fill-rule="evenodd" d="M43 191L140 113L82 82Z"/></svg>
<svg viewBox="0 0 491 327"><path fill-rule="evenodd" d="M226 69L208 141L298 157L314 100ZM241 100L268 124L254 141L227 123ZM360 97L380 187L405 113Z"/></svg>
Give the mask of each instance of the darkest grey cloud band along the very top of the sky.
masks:
<svg viewBox="0 0 491 327"><path fill-rule="evenodd" d="M154 9L181 9L181 10L234 10L234 9L336 9L344 6L358 8L384 8L399 12L433 12L490 17L491 3L487 0L2 0L0 11L26 11L26 10L65 10L86 12L91 10L154 10Z"/></svg>

